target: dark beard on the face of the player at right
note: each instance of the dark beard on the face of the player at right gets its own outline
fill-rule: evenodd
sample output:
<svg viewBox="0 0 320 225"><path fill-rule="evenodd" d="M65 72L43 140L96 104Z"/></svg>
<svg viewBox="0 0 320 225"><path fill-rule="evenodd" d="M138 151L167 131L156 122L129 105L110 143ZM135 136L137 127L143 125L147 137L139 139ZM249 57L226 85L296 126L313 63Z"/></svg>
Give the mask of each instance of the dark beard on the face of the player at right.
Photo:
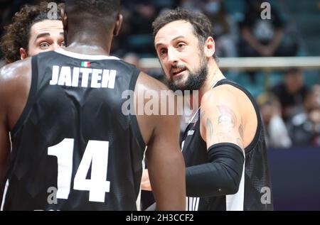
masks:
<svg viewBox="0 0 320 225"><path fill-rule="evenodd" d="M201 60L200 68L195 72L189 72L188 79L186 80L185 84L175 84L174 80L171 78L167 80L168 87L172 91L176 92L177 90L180 90L182 92L184 91L196 91L200 89L203 85L203 83L207 79L208 75L208 65L206 63L205 59Z"/></svg>

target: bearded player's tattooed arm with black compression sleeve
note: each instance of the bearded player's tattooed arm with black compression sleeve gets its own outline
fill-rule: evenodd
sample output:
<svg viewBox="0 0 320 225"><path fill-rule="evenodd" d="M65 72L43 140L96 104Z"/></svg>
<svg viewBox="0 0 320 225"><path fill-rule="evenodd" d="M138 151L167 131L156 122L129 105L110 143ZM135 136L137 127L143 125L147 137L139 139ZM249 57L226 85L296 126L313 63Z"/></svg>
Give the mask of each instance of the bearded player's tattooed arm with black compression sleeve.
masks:
<svg viewBox="0 0 320 225"><path fill-rule="evenodd" d="M243 124L235 97L216 88L201 100L201 136L209 163L186 168L188 196L210 197L238 192L243 156Z"/></svg>

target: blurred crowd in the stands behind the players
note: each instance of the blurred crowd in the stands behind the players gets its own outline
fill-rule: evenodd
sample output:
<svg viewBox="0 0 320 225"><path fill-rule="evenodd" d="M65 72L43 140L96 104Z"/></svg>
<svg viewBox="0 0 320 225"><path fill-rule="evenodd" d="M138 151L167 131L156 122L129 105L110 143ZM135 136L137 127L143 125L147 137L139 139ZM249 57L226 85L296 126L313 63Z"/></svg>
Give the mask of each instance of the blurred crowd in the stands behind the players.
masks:
<svg viewBox="0 0 320 225"><path fill-rule="evenodd" d="M156 57L151 22L159 13L177 6L203 12L213 21L218 57L320 55L320 1L269 0L271 18L267 20L260 16L262 2L122 0L124 23L120 35L114 39L112 55L161 79L161 69L146 69L141 59ZM36 3L38 1L0 0L0 35L23 4ZM249 89L257 99L270 147L320 146L319 68L223 72Z"/></svg>

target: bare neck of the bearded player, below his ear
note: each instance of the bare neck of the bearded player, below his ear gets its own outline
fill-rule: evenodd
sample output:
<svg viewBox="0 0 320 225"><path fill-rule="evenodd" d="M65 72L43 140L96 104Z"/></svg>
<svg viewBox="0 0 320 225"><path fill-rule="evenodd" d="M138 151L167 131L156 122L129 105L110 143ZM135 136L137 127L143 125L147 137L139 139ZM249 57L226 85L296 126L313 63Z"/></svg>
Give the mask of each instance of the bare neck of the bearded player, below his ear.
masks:
<svg viewBox="0 0 320 225"><path fill-rule="evenodd" d="M215 60L210 58L210 61L208 62L208 77L198 92L198 106L201 105L203 95L206 94L206 92L209 92L220 79L225 79L225 76L220 71ZM190 100L190 106L191 109L193 109L193 97Z"/></svg>

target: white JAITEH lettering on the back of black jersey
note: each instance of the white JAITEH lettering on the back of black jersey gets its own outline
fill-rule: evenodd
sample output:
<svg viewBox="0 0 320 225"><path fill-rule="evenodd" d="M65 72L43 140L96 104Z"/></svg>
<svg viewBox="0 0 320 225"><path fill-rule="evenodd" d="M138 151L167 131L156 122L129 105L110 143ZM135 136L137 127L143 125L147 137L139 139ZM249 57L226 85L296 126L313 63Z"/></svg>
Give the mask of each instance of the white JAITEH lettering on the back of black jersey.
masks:
<svg viewBox="0 0 320 225"><path fill-rule="evenodd" d="M50 85L114 89L117 70L100 70L85 67L54 65ZM89 77L91 82L89 83ZM81 77L81 79L80 79Z"/></svg>

